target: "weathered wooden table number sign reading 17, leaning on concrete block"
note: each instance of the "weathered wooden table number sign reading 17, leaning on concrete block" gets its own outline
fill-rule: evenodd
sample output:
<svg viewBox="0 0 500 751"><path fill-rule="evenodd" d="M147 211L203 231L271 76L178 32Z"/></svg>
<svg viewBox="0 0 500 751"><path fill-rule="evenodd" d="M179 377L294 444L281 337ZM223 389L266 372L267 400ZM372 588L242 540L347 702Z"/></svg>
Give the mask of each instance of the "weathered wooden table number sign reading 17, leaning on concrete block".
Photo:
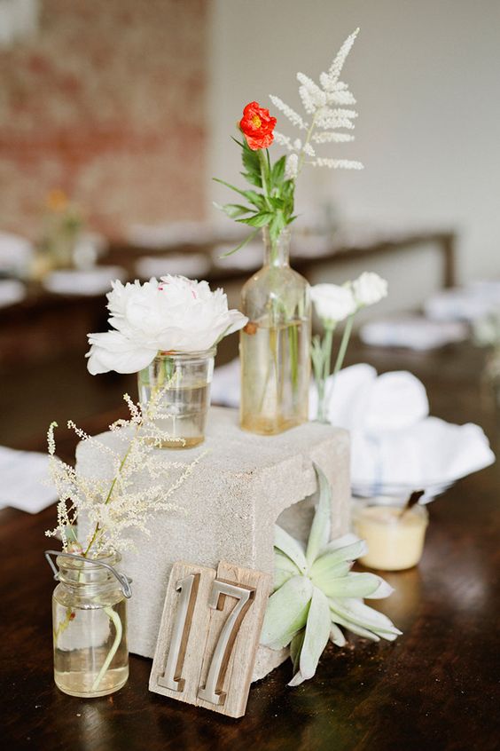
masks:
<svg viewBox="0 0 500 751"><path fill-rule="evenodd" d="M268 573L177 562L168 580L149 689L230 717L246 701L270 595Z"/></svg>

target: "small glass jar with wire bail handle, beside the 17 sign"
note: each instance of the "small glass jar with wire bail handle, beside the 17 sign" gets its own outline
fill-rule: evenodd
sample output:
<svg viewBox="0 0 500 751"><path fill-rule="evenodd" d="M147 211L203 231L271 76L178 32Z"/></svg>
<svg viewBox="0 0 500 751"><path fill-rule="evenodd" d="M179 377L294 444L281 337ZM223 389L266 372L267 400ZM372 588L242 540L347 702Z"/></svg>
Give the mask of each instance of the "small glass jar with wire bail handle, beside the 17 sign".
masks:
<svg viewBox="0 0 500 751"><path fill-rule="evenodd" d="M59 571L50 556L56 557ZM129 580L115 569L117 555L84 558L47 550L59 581L52 596L54 680L71 696L105 696L129 677Z"/></svg>

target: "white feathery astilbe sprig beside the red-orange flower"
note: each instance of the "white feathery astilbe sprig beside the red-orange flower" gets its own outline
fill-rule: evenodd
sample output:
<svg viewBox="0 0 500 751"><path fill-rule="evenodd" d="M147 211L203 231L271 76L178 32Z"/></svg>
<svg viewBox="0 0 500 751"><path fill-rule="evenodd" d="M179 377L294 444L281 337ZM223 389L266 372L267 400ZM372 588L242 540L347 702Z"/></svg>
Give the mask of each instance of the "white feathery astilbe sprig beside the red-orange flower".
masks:
<svg viewBox="0 0 500 751"><path fill-rule="evenodd" d="M316 156L315 148L311 145L311 142L319 145L348 143L348 141L354 140L353 135L345 133L343 130L354 130L355 124L353 121L357 117L357 112L345 106L354 105L355 98L348 90L347 83L341 82L339 77L358 32L359 29L356 29L353 34L348 36L328 71L319 76L319 83L313 81L309 75L297 74L297 80L300 84L299 96L306 115L311 118L310 123L306 122L292 107L289 107L283 99L270 95L274 107L279 109L294 127L306 131L305 138L295 138L294 140L275 131L276 143L285 146L289 152L296 154L298 158L296 165L294 161L290 162L290 156L287 158L287 165L290 164L287 167L287 176L291 175L296 178L304 163L312 164L315 167L328 167L333 170L363 169L361 162L348 159L317 157L312 162L308 159L308 157Z"/></svg>

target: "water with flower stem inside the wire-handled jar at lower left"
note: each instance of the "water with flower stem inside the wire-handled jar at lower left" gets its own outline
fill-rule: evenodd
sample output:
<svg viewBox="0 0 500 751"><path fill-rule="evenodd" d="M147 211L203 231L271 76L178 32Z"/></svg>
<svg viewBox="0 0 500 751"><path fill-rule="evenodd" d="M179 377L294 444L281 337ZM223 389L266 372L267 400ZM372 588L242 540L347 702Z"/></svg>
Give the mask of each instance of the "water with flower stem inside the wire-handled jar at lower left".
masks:
<svg viewBox="0 0 500 751"><path fill-rule="evenodd" d="M63 600L65 598L63 597ZM71 696L98 697L129 677L126 602L66 605L54 597L54 680Z"/></svg>

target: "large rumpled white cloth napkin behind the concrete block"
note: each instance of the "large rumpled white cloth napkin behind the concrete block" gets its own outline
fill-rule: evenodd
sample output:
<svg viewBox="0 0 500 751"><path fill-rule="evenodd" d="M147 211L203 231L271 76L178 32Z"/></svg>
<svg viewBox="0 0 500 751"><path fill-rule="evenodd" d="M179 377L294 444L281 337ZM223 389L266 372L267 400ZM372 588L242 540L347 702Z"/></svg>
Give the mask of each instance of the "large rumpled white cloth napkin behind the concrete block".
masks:
<svg viewBox="0 0 500 751"><path fill-rule="evenodd" d="M377 375L365 363L344 368L327 382L328 418L351 433L351 479L360 495L426 490L430 501L458 478L495 461L478 425L455 425L429 416L426 389L415 375ZM239 362L215 368L212 400L238 407ZM316 417L311 385L309 416Z"/></svg>

